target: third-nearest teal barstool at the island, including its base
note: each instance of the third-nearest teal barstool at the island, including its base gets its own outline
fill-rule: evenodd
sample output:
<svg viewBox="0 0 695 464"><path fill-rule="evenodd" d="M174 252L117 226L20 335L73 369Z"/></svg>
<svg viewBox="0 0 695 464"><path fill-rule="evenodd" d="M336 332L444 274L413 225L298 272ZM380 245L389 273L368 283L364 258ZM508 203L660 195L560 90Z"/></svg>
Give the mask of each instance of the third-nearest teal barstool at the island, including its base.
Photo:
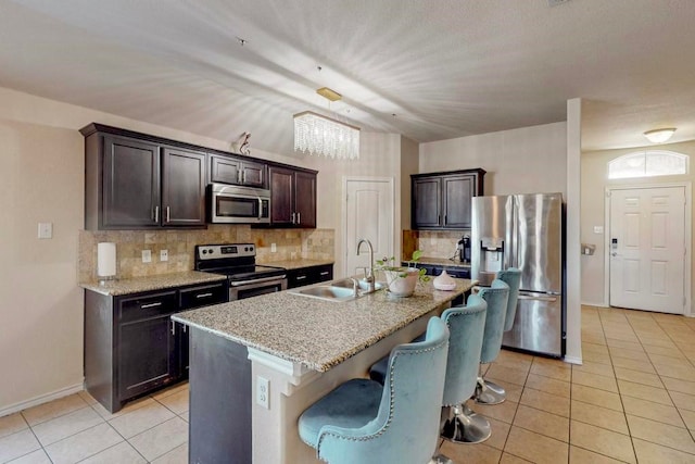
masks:
<svg viewBox="0 0 695 464"><path fill-rule="evenodd" d="M490 287L482 288L478 294L488 303L488 314L485 316L485 330L480 354L480 376L478 377L475 398L478 403L498 404L504 401L504 397L500 399L488 388L488 383L482 375L482 365L493 362L502 349L509 286L496 278Z"/></svg>

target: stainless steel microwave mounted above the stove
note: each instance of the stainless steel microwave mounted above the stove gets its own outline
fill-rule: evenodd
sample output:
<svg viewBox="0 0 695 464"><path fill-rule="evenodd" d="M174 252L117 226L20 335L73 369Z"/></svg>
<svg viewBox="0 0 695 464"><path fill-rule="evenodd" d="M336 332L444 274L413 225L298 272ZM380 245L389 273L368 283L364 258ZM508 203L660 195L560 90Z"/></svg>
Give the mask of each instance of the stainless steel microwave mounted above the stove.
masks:
<svg viewBox="0 0 695 464"><path fill-rule="evenodd" d="M270 190L226 184L207 186L207 222L269 224Z"/></svg>

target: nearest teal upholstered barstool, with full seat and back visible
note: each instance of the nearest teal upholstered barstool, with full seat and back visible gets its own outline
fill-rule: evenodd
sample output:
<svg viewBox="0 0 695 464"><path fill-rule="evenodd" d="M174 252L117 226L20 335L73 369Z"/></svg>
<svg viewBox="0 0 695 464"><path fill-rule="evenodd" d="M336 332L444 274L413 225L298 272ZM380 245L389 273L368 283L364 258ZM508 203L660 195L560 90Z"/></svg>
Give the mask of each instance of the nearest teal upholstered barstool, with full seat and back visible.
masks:
<svg viewBox="0 0 695 464"><path fill-rule="evenodd" d="M299 432L329 463L425 464L437 449L448 329L432 317L424 341L395 347L383 387L357 378L302 413Z"/></svg>

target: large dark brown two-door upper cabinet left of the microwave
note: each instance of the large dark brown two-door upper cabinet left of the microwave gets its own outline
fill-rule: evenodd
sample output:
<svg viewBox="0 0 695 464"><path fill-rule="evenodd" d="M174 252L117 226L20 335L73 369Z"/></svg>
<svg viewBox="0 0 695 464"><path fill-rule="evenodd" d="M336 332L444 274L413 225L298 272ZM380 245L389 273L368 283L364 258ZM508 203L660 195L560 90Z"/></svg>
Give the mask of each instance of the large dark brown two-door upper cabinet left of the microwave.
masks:
<svg viewBox="0 0 695 464"><path fill-rule="evenodd" d="M85 136L85 228L205 227L205 153L90 124Z"/></svg>

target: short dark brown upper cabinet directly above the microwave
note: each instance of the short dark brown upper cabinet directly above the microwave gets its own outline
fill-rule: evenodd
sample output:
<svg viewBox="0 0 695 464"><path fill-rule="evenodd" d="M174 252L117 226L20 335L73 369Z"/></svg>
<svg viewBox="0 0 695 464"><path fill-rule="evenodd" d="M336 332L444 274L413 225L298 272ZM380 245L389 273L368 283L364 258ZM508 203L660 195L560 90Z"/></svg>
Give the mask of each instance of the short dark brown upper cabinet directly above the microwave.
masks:
<svg viewBox="0 0 695 464"><path fill-rule="evenodd" d="M210 181L268 188L268 167L250 159L208 151Z"/></svg>

